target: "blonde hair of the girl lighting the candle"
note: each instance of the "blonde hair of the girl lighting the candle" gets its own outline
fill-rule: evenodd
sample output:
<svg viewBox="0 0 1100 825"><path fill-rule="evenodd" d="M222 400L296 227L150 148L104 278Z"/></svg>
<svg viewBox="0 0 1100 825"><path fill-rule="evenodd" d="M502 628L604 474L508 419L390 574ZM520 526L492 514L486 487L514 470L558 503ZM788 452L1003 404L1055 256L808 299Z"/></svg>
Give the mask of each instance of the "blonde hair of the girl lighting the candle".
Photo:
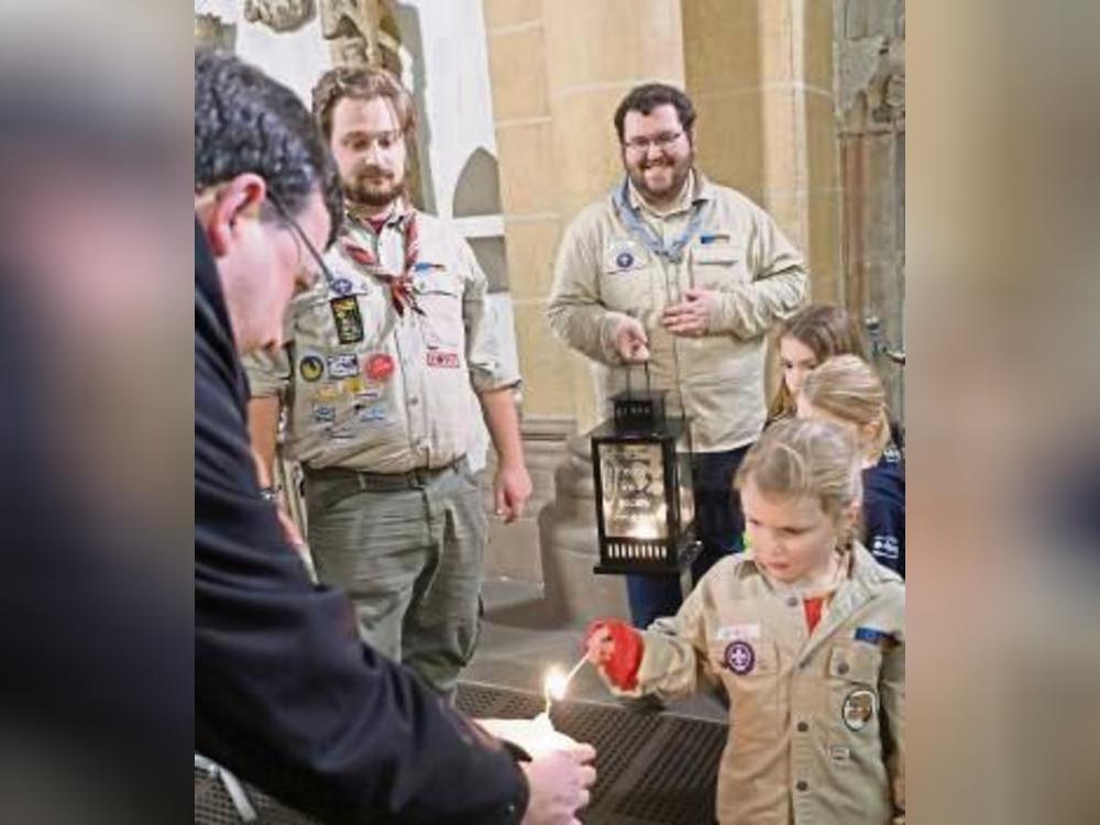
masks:
<svg viewBox="0 0 1100 825"><path fill-rule="evenodd" d="M859 451L829 421L784 418L771 425L745 455L734 486L744 490L749 481L767 496L817 499L838 526L864 497ZM843 534L842 548L850 548L854 538L854 530Z"/></svg>

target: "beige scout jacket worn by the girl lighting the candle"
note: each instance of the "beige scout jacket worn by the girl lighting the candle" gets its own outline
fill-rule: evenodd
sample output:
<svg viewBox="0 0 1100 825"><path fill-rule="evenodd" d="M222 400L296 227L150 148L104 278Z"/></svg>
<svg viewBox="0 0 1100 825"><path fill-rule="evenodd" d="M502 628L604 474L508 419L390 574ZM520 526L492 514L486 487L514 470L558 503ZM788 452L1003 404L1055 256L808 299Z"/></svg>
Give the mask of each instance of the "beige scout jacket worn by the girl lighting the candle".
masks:
<svg viewBox="0 0 1100 825"><path fill-rule="evenodd" d="M902 580L859 544L812 635L798 596L745 554L728 557L646 631L626 695L673 698L722 682L723 825L903 823L904 615Z"/></svg>

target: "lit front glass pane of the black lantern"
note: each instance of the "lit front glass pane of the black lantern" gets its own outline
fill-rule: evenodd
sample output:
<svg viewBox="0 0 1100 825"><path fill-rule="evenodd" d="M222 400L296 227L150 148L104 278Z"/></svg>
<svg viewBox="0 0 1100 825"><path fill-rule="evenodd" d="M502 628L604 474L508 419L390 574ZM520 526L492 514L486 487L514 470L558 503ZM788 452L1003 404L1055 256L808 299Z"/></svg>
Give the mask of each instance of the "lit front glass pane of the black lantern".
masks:
<svg viewBox="0 0 1100 825"><path fill-rule="evenodd" d="M600 444L601 506L607 536L667 539L668 504L661 446Z"/></svg>

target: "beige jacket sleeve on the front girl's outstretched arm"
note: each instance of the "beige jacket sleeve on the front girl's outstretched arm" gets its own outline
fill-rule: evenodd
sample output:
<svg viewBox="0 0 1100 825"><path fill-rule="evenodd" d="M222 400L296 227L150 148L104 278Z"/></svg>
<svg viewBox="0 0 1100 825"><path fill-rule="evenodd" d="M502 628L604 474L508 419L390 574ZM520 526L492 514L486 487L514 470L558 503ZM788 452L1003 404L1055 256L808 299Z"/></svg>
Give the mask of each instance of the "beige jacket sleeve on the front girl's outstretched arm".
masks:
<svg viewBox="0 0 1100 825"><path fill-rule="evenodd" d="M653 694L666 702L681 698L708 675L704 585L700 583L675 616L657 619L642 634L645 652L634 695Z"/></svg>

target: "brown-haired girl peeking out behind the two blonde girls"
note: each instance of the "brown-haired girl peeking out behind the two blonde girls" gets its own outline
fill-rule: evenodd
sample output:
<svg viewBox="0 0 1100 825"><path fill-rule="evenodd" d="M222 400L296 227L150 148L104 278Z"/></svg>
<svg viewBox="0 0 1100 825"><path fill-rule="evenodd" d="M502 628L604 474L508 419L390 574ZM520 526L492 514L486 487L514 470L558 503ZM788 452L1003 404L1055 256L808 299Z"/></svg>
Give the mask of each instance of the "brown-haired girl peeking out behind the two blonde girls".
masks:
<svg viewBox="0 0 1100 825"><path fill-rule="evenodd" d="M812 304L780 321L776 340L783 380L768 408L769 421L794 417L803 378L826 359L845 354L867 359L859 328L847 312L831 304Z"/></svg>

